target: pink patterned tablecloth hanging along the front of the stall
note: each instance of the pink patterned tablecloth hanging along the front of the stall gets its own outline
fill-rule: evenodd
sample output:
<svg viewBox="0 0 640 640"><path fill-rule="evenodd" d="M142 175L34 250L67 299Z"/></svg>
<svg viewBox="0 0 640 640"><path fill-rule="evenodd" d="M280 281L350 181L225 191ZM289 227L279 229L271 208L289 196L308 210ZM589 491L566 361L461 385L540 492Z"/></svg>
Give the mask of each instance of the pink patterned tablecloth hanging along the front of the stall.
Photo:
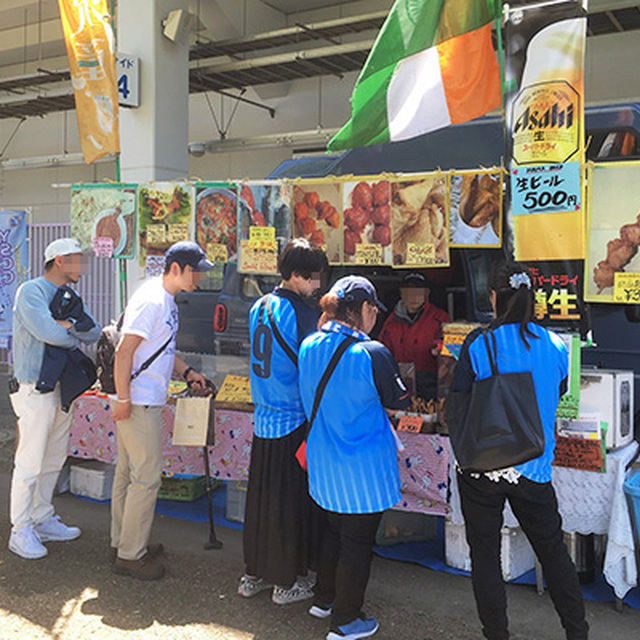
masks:
<svg viewBox="0 0 640 640"><path fill-rule="evenodd" d="M168 474L204 473L200 447L174 447L175 405L162 410L163 471ZM73 407L69 455L116 460L116 427L109 401L99 396L81 396ZM405 449L399 453L402 501L396 509L444 515L448 511L447 438L440 435L399 433ZM253 414L228 409L215 410L215 445L209 447L211 475L220 480L245 480L249 475Z"/></svg>

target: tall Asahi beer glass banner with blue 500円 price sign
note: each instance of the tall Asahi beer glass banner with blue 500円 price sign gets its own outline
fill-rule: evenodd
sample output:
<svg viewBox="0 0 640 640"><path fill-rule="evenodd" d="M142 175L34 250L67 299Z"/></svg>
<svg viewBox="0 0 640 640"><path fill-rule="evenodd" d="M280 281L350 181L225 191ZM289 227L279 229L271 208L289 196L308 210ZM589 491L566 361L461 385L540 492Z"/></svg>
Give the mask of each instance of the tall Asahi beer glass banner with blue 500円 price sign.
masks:
<svg viewBox="0 0 640 640"><path fill-rule="evenodd" d="M517 213L528 215L512 219L515 255L518 260L581 259L584 218L576 204L582 201L586 11L575 1L511 6L505 24L511 187L517 186L525 167L535 166L552 177L554 166L569 162L578 163L580 181L576 189L573 180L566 199L555 187L548 196L533 194L536 203L528 211L516 195Z"/></svg>

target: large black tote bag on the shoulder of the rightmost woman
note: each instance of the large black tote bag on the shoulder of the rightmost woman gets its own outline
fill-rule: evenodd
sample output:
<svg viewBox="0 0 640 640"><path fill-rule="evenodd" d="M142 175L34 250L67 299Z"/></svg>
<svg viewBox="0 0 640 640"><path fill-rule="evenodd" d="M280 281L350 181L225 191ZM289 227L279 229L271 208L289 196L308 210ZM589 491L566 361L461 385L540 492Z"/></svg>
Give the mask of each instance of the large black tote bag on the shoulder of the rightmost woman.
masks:
<svg viewBox="0 0 640 640"><path fill-rule="evenodd" d="M495 336L489 332L493 348ZM528 371L498 373L483 332L491 376L471 390L449 392L445 403L451 446L463 471L495 471L542 455L544 431L533 378Z"/></svg>

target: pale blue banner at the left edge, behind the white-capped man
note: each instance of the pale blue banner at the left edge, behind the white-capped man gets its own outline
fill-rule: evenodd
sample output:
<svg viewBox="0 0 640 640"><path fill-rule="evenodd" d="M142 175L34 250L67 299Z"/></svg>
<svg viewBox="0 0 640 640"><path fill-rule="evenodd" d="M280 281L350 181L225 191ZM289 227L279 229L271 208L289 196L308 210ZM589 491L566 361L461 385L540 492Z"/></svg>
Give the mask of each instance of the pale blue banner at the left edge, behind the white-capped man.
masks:
<svg viewBox="0 0 640 640"><path fill-rule="evenodd" d="M11 337L13 301L28 269L27 214L0 210L0 347Z"/></svg>

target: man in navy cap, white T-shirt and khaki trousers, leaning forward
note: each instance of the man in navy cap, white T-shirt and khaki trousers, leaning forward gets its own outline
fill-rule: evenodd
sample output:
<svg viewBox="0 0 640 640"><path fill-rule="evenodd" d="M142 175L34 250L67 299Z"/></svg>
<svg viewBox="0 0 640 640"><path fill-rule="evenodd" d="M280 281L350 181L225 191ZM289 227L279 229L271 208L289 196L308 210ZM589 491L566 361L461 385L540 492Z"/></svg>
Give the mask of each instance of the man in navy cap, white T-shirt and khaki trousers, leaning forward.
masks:
<svg viewBox="0 0 640 640"><path fill-rule="evenodd" d="M116 347L118 461L111 496L111 547L115 573L157 580L165 573L157 561L161 544L149 544L162 474L162 420L172 373L204 388L204 377L175 353L178 309L175 295L193 291L200 273L213 264L194 242L176 242L165 254L164 273L145 282L127 305Z"/></svg>

